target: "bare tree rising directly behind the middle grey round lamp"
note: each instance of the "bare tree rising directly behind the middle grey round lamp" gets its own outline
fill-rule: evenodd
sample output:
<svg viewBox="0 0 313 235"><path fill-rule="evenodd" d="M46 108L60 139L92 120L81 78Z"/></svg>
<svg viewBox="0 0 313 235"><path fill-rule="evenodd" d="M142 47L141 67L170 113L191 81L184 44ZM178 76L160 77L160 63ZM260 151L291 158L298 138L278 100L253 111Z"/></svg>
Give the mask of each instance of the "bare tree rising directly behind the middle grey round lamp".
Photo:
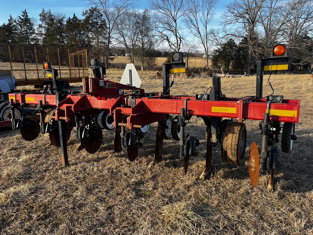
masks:
<svg viewBox="0 0 313 235"><path fill-rule="evenodd" d="M166 42L175 51L180 51L183 41L179 20L183 16L183 0L149 0L154 12L154 24L161 43Z"/></svg>

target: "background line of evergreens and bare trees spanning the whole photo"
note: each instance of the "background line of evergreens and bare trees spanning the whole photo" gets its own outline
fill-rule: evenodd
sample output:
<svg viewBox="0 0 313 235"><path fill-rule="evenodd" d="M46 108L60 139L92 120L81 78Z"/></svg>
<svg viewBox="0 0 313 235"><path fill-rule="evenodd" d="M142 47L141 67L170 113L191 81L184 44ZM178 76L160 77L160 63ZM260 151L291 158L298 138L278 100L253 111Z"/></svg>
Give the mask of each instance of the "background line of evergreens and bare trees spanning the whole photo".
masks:
<svg viewBox="0 0 313 235"><path fill-rule="evenodd" d="M112 55L125 54L141 69L164 55L160 48L202 51L216 70L250 74L256 60L269 56L276 43L288 47L293 69L313 62L311 0L233 0L224 7L220 27L212 29L217 0L149 0L136 10L134 0L85 0L90 8L66 18L43 9L39 22L26 10L0 26L0 42L87 48L107 67Z"/></svg>

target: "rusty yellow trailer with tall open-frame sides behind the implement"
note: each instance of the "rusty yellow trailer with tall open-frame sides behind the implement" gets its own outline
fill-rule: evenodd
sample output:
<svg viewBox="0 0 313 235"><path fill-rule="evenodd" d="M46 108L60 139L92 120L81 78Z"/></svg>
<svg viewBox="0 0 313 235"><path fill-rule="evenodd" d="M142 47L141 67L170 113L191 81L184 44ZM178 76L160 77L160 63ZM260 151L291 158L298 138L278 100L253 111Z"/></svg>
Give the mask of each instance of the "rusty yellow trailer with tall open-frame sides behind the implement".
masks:
<svg viewBox="0 0 313 235"><path fill-rule="evenodd" d="M11 70L17 86L52 85L53 78L41 69L45 61L56 66L63 88L88 77L87 50L81 48L0 43L0 61L0 71Z"/></svg>

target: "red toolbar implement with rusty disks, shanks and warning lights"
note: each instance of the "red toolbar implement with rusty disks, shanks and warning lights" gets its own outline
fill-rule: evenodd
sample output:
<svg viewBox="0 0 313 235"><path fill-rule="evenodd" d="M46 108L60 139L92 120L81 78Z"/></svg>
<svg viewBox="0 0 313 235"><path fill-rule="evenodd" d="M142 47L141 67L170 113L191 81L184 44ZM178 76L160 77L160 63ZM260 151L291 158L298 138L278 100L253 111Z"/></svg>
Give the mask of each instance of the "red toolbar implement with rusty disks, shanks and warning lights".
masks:
<svg viewBox="0 0 313 235"><path fill-rule="evenodd" d="M212 147L220 144L224 162L240 165L246 149L247 131L244 121L259 120L262 143L261 151L255 142L250 147L250 181L255 187L259 172L268 172L268 187L274 187L274 169L279 166L278 147L281 133L281 149L289 153L295 136L295 123L299 122L300 100L286 99L283 95L263 97L263 74L273 70L287 70L286 45L275 45L270 58L257 62L256 95L229 98L222 93L221 78L213 77L212 86L195 96L173 96L170 88L175 73L185 72L183 55L172 54L172 62L163 64L163 92L146 92L132 86L132 71L129 82L121 84L103 78L96 59L90 59L89 66L94 77L83 78L83 93L69 94L60 86L58 71L50 63L44 63L44 70L53 77L54 88L44 94L24 92L10 94L12 128L20 128L25 140L32 141L39 133L49 133L51 143L61 148L62 165L67 166L67 141L73 127L81 146L93 154L102 143L102 130L115 128L114 150L127 148L130 161L138 156L140 139L148 132L150 124L158 122L156 144L152 167L162 160L164 139L178 141L179 155L184 159L187 172L190 156L196 154L199 141L196 136L186 133L185 127L192 116L202 118L206 128L205 166L200 176L207 178L211 173ZM39 120L15 118L14 110L31 104L37 105ZM48 110L44 118L45 110ZM175 116L171 116L174 114ZM236 121L235 121L236 120ZM281 128L281 123L283 127ZM166 151L166 150L164 150Z"/></svg>

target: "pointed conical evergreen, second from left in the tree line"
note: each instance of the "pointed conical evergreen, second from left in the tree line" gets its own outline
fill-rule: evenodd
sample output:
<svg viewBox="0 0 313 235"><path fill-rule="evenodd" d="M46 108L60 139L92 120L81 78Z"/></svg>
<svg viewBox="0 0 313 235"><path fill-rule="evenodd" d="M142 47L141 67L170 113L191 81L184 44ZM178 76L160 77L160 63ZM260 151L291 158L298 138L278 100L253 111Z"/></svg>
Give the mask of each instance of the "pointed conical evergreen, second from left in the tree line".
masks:
<svg viewBox="0 0 313 235"><path fill-rule="evenodd" d="M26 9L22 11L22 15L18 16L18 42L21 44L36 44L38 39L36 38L36 30L34 26L34 20L29 18Z"/></svg>

